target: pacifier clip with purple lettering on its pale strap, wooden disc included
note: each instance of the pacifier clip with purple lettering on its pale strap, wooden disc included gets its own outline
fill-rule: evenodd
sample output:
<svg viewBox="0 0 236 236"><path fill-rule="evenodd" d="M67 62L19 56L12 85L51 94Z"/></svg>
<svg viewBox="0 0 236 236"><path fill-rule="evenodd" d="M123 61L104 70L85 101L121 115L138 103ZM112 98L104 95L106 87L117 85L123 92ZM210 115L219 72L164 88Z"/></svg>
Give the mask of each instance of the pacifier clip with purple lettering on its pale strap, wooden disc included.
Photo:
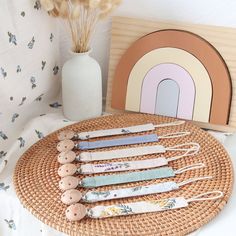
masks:
<svg viewBox="0 0 236 236"><path fill-rule="evenodd" d="M165 165L168 165L168 163L171 161L176 161L183 157L193 156L197 154L200 149L199 144L197 143L191 143L191 144L192 144L192 147L188 149L186 148L180 149L181 146L179 145L178 150L185 150L185 153L182 155L169 157L169 158L159 157L159 158L137 160L137 161L110 162L110 163L102 163L102 164L84 164L84 165L80 165L80 167L77 167L77 165L75 164L68 163L68 164L62 165L58 169L58 175L60 177L65 177L65 176L70 176L74 174L97 174L97 173L129 171L129 170L142 170L142 169L150 169L150 168L165 166ZM173 149L176 149L176 147L177 146L175 146ZM126 153L129 154L129 152L126 152ZM136 150L134 150L133 154L134 153L135 154L137 153ZM116 155L116 151L114 151L114 155ZM119 156L119 153L118 153L118 156ZM99 155L99 157L102 158L102 155Z"/></svg>

